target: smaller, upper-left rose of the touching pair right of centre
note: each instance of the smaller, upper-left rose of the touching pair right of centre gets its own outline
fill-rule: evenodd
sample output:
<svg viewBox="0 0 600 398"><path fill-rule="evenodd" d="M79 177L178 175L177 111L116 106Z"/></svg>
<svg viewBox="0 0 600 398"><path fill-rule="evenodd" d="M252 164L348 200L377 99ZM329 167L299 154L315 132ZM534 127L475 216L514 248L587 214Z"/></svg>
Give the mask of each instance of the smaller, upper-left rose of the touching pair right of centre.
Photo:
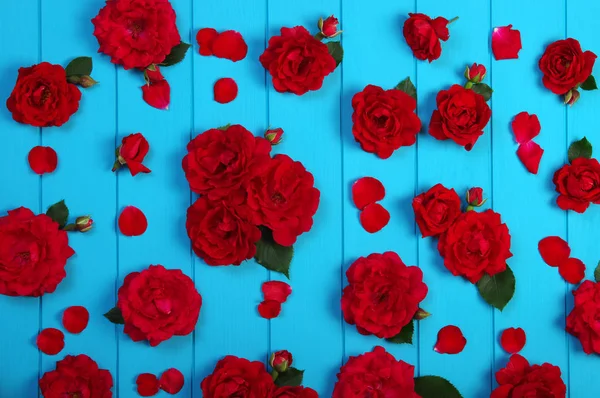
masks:
<svg viewBox="0 0 600 398"><path fill-rule="evenodd" d="M454 189L436 184L413 199L413 210L423 238L445 232L461 214Z"/></svg>

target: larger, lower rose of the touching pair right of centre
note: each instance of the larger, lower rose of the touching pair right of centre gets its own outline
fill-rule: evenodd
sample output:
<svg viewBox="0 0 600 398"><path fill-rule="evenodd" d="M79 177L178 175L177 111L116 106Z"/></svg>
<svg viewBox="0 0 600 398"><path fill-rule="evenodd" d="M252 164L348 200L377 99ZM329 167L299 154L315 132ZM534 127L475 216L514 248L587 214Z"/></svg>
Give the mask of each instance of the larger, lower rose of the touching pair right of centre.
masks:
<svg viewBox="0 0 600 398"><path fill-rule="evenodd" d="M438 250L452 275L477 283L484 274L506 270L510 252L510 233L500 214L493 210L467 211L440 236Z"/></svg>

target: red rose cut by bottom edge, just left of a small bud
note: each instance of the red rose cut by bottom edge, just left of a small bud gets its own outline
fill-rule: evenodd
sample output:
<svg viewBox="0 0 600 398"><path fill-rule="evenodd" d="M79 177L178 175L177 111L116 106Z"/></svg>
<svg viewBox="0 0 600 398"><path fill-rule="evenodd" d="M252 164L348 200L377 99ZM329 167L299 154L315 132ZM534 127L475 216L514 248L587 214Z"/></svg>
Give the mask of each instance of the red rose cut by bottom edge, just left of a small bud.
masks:
<svg viewBox="0 0 600 398"><path fill-rule="evenodd" d="M204 398L272 398L275 384L262 362L228 355L200 384Z"/></svg>

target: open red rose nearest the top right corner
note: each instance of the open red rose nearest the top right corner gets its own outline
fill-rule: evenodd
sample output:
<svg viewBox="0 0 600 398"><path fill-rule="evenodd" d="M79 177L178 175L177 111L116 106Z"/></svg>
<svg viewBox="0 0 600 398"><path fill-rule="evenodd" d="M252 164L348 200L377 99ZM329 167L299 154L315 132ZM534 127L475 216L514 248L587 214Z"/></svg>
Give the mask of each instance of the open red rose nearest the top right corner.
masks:
<svg viewBox="0 0 600 398"><path fill-rule="evenodd" d="M557 40L546 47L539 67L544 86L554 94L565 94L592 74L596 54L581 51L575 39Z"/></svg>

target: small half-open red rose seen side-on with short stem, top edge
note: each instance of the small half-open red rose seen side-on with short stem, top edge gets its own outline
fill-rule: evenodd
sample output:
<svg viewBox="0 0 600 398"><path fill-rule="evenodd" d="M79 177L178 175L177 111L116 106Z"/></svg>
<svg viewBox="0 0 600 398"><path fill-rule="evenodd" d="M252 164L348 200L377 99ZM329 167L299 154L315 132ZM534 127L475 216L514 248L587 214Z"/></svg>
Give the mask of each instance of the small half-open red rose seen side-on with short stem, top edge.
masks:
<svg viewBox="0 0 600 398"><path fill-rule="evenodd" d="M450 38L448 20L437 17L431 19L425 14L408 14L404 21L404 39L417 59L429 62L438 59L442 54L441 41Z"/></svg>

